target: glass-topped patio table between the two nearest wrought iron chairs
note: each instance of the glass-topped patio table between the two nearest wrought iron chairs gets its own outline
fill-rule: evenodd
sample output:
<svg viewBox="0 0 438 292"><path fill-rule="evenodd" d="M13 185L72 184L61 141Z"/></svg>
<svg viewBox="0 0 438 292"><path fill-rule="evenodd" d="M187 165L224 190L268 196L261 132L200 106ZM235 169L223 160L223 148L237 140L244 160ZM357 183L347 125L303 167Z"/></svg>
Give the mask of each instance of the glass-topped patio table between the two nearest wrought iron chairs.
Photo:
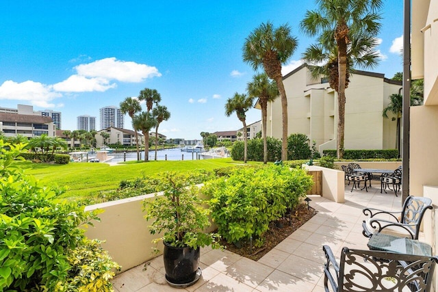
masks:
<svg viewBox="0 0 438 292"><path fill-rule="evenodd" d="M385 252L396 252L398 254L432 256L432 248L427 243L385 233L374 233L370 241L368 241L368 248L370 248L370 250L383 250Z"/></svg>

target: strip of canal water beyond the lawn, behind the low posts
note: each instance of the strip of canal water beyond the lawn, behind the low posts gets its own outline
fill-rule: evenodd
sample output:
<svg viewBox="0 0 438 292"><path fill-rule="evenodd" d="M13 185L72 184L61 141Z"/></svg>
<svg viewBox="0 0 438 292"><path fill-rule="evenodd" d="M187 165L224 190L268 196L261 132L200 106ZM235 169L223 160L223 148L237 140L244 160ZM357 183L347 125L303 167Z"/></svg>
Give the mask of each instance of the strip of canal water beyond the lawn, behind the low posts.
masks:
<svg viewBox="0 0 438 292"><path fill-rule="evenodd" d="M140 152L142 160L144 160L144 151ZM108 153L108 156L113 156L110 162L120 162L124 161L125 154L123 152L118 153ZM197 156L197 157L196 157ZM199 153L194 152L184 152L181 151L181 148L172 148L166 150L158 150L157 152L157 160L196 160L203 159L199 156ZM155 159L155 150L149 151L149 160ZM137 160L137 152L127 152L126 153L126 161Z"/></svg>

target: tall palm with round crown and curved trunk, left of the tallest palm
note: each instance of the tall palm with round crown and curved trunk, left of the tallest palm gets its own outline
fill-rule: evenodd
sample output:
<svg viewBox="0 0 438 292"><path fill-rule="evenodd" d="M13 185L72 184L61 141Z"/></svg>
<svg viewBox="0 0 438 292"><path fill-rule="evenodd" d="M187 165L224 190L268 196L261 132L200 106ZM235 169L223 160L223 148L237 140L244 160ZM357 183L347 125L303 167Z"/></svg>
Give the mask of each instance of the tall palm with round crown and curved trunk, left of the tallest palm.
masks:
<svg viewBox="0 0 438 292"><path fill-rule="evenodd" d="M243 47L244 62L254 70L263 67L268 77L276 82L281 97L281 116L283 124L281 159L287 160L287 97L281 64L285 64L298 45L298 40L291 36L288 25L274 29L272 23L261 23L248 38Z"/></svg>

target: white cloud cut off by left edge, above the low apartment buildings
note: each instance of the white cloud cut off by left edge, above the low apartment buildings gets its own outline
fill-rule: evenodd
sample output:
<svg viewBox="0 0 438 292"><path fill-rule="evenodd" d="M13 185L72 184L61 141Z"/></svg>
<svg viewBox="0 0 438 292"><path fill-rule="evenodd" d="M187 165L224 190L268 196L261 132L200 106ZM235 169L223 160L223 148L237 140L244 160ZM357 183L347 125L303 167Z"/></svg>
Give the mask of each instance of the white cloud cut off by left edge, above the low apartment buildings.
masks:
<svg viewBox="0 0 438 292"><path fill-rule="evenodd" d="M25 81L17 83L8 80L3 82L0 86L0 100L29 101L32 105L38 107L55 107L53 103L49 102L60 96L62 96L62 94L53 92L50 85L40 82Z"/></svg>

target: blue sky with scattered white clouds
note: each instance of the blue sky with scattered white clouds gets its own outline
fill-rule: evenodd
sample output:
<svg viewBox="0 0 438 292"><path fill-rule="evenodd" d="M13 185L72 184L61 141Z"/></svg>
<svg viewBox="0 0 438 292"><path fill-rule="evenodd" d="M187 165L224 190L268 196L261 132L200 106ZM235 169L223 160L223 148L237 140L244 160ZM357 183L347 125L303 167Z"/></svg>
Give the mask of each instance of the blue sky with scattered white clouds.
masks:
<svg viewBox="0 0 438 292"><path fill-rule="evenodd" d="M378 36L382 60L374 72L402 71L402 0L387 0ZM242 62L245 38L262 22L288 23L298 48L283 67L296 68L313 42L298 24L315 1L1 1L0 106L33 105L62 112L62 129L80 115L120 105L156 89L171 118L159 132L198 139L199 133L242 128L224 105L243 93L254 73ZM145 106L143 105L145 109ZM260 120L251 109L247 123ZM125 118L131 129L131 119Z"/></svg>

